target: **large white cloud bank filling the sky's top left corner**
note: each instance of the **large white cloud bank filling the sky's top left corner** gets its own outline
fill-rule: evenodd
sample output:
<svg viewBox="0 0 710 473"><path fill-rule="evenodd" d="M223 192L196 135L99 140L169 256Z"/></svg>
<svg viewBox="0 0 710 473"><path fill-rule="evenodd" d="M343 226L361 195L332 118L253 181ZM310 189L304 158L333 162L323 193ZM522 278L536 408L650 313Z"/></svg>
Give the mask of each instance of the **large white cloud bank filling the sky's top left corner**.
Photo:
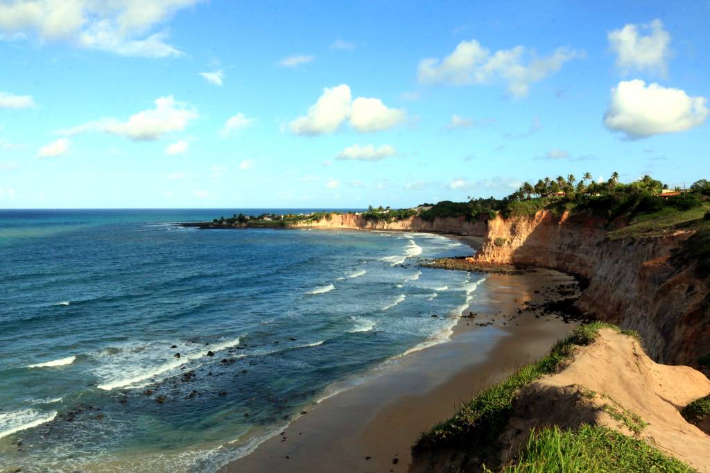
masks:
<svg viewBox="0 0 710 473"><path fill-rule="evenodd" d="M182 55L151 33L176 11L201 0L16 0L0 4L0 33L67 40L81 48L119 55L165 58Z"/></svg>

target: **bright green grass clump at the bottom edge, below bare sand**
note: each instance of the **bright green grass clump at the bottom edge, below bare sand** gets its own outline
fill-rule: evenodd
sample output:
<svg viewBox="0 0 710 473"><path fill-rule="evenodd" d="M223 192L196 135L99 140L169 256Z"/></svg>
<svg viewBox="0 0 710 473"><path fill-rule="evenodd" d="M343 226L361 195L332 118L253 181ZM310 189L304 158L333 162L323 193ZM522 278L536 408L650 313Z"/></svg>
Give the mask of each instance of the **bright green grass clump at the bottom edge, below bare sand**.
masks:
<svg viewBox="0 0 710 473"><path fill-rule="evenodd" d="M695 471L643 440L591 425L576 431L555 427L532 432L518 459L501 469L506 473Z"/></svg>

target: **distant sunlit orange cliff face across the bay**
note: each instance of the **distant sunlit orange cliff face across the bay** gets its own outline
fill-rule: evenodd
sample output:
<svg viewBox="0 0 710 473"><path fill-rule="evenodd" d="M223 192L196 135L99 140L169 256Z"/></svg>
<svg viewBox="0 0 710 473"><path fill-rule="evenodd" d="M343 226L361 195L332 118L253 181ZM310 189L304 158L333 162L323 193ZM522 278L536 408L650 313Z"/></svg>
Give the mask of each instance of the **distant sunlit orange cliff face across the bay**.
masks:
<svg viewBox="0 0 710 473"><path fill-rule="evenodd" d="M486 222L467 222L464 217L435 218L432 222L420 217L385 222L364 219L356 214L332 214L330 219L320 219L312 224L299 225L299 227L315 228L348 228L367 230L414 230L419 232L442 232L461 235L474 235L485 237Z"/></svg>

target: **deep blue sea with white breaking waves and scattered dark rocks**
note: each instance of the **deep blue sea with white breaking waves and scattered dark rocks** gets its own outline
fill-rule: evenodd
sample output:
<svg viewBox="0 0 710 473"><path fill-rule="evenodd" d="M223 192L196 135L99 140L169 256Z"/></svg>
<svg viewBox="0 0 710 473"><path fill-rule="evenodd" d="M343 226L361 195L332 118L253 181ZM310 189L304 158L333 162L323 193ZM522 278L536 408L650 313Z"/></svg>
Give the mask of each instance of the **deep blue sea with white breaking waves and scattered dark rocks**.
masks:
<svg viewBox="0 0 710 473"><path fill-rule="evenodd" d="M234 212L263 210L0 210L1 466L210 471L445 339L480 280L416 266L469 253L437 235L171 223Z"/></svg>

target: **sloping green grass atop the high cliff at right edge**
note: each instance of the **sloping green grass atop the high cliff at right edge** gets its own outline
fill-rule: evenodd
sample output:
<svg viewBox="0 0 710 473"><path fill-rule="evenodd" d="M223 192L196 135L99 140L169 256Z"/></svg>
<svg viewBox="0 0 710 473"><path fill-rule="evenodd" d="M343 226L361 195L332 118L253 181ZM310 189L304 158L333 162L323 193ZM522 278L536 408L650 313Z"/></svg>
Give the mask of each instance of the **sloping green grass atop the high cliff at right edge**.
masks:
<svg viewBox="0 0 710 473"><path fill-rule="evenodd" d="M710 204L703 204L691 210L674 210L665 207L650 214L639 214L627 227L608 232L608 239L616 240L628 237L646 237L665 234L675 229L700 226L704 222L705 212L710 210Z"/></svg>

